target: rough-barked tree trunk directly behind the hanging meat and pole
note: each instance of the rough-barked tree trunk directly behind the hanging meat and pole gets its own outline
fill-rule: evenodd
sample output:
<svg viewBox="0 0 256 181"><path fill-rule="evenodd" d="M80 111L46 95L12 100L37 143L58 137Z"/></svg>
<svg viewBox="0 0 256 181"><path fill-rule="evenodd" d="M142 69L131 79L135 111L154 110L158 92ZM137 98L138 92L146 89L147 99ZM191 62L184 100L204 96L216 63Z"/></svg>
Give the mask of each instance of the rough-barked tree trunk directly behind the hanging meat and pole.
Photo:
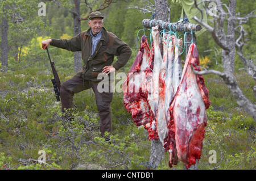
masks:
<svg viewBox="0 0 256 181"><path fill-rule="evenodd" d="M155 0L155 19L168 21L168 9L162 8L168 5L167 0ZM164 149L160 140L151 140L150 162L152 165L158 166L164 158Z"/></svg>

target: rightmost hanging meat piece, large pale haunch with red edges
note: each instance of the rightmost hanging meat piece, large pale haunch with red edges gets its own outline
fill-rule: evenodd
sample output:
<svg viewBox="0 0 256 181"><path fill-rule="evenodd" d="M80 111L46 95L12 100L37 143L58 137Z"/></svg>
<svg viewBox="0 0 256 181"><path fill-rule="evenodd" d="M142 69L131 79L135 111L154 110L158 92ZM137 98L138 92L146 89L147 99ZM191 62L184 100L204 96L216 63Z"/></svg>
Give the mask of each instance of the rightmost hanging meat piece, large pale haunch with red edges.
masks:
<svg viewBox="0 0 256 181"><path fill-rule="evenodd" d="M187 167L195 165L201 157L207 117L205 110L210 106L208 89L202 75L193 73L191 66L200 71L199 55L195 44L189 47L181 82L169 108L171 119L168 124L170 141L170 163L177 156ZM173 137L175 133L175 137ZM174 140L173 140L174 139ZM171 148L176 147L177 153ZM174 149L175 150L175 149ZM175 155L176 154L176 155ZM174 163L175 164L175 163Z"/></svg>

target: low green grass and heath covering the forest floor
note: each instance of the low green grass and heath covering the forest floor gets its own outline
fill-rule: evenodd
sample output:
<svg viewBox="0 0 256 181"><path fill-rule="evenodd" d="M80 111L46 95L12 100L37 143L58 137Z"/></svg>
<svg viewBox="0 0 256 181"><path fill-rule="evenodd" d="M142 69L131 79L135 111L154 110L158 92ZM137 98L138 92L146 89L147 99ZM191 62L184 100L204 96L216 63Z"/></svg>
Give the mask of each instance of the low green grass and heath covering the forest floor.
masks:
<svg viewBox="0 0 256 181"><path fill-rule="evenodd" d="M74 73L59 73L61 82ZM112 102L113 134L107 143L100 137L93 91L76 94L76 119L61 116L50 79L51 72L36 68L0 73L0 169L147 169L150 141L144 128L137 128L115 92ZM215 75L206 75L212 105L199 169L256 169L255 121ZM255 102L253 80L236 75L244 94ZM37 162L39 150L46 151L46 164ZM209 163L210 150L216 163ZM168 153L156 169L168 167ZM152 168L151 168L152 169ZM178 163L172 169L183 169Z"/></svg>

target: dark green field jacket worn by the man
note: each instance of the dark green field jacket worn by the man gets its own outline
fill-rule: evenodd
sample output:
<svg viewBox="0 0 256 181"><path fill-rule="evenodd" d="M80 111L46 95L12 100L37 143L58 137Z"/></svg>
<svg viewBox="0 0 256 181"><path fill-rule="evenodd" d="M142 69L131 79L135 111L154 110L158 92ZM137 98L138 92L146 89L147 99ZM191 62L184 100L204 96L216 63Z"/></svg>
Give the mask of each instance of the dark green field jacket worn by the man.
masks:
<svg viewBox="0 0 256 181"><path fill-rule="evenodd" d="M102 27L101 39L98 41L97 47L91 56L92 37L90 30L91 28L82 31L69 40L52 39L50 45L71 50L72 52L81 51L84 65L82 70L77 73L77 76L83 77L88 81L100 82L103 78L97 79L97 76L101 73L102 68L112 65L114 56L118 56L118 60L113 64L113 67L115 70L122 68L131 56L131 49L129 45L112 32L108 32Z"/></svg>

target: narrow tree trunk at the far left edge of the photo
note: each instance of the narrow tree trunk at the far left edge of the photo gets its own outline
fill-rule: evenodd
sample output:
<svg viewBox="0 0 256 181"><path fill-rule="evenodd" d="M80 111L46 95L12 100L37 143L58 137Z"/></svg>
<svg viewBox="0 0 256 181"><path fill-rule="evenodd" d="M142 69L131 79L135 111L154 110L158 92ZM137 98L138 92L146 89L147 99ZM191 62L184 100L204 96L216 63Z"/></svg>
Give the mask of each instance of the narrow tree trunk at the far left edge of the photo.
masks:
<svg viewBox="0 0 256 181"><path fill-rule="evenodd" d="M5 1L5 0L3 0ZM8 19L6 17L6 6L3 6L3 18L2 18L2 42L1 42L1 57L2 57L2 67L3 71L7 71L8 67Z"/></svg>

